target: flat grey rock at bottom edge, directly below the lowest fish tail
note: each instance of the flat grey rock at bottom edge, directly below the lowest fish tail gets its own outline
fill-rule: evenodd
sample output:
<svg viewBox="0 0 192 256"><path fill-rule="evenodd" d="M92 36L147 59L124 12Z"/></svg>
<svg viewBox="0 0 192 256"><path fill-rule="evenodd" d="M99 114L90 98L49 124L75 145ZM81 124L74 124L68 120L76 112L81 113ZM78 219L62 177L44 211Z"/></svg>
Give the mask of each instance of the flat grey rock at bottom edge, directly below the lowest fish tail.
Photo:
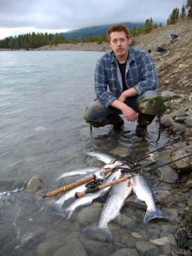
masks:
<svg viewBox="0 0 192 256"><path fill-rule="evenodd" d="M106 256L110 255L113 252L113 244L112 243L102 243L99 241L88 241L84 243L86 250L88 251L88 255L92 256ZM70 255L70 253L68 254ZM76 254L81 255L81 254Z"/></svg>

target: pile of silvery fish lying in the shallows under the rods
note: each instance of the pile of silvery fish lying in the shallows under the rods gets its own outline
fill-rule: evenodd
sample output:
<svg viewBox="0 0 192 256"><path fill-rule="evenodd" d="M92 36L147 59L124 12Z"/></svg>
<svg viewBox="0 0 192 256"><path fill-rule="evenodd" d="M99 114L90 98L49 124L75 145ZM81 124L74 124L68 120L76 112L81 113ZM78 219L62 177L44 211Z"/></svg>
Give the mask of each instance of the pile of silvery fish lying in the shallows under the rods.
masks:
<svg viewBox="0 0 192 256"><path fill-rule="evenodd" d="M115 161L112 156L97 152L90 152L88 153L88 155L96 157L100 161L107 164L109 167L112 166L114 168L115 166L114 164L112 164ZM120 162L119 160L115 162L116 166L120 166L120 164L122 163L123 162ZM74 171L71 173L63 173L63 175L61 175L58 179L66 177L67 175L76 175L77 173L85 174L93 172L95 175L97 175L100 173L100 171L101 170L99 168L89 168L87 170L79 170L79 172ZM119 179L120 177L122 177L122 172L120 169L116 169L114 172L111 173L111 175L109 175L108 178L104 180L102 184L107 184L108 182ZM109 231L108 223L109 221L115 220L118 217L118 215L120 214L120 210L124 205L125 199L132 193L132 191L134 191L134 193L138 197L137 200L143 201L147 205L144 223L147 223L154 218L163 218L165 220L168 220L168 216L156 206L154 192L150 187L150 184L148 184L148 181L144 175L136 175L135 177L127 179L124 182L121 182L114 186L100 189L98 191L95 191L94 193L88 193L81 198L75 199L75 193L77 191L84 191L85 189L85 184L78 186L77 188L71 189L67 191L63 196L61 196L61 198L54 201L54 203L60 209L63 216L67 216L67 218L69 219L70 216L72 216L72 213L77 209L77 207L82 205L90 205L92 204L93 200L95 200L96 198L100 198L101 196L109 192L107 200L102 207L102 212L98 225L92 228L88 228L87 230L85 230L86 233L90 232L102 234L102 236L104 236L107 240L111 240L112 235ZM70 198L74 198L74 202L72 202L72 204L70 204L67 208L63 207L65 202L67 202L67 200Z"/></svg>

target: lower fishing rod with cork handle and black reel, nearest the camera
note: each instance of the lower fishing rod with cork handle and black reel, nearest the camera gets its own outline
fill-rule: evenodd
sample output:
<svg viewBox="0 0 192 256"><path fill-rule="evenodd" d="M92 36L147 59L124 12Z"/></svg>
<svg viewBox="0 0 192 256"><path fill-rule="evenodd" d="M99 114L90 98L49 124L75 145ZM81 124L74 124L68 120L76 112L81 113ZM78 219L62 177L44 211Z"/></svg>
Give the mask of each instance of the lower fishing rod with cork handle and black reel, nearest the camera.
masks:
<svg viewBox="0 0 192 256"><path fill-rule="evenodd" d="M120 179L113 180L111 182L108 182L107 184L101 184L101 185L95 186L93 188L86 189L85 191L76 192L75 193L75 197L76 198L81 198L81 197L83 197L84 195L86 195L88 193L94 193L95 191L98 191L100 189L104 189L104 188L108 188L110 186L114 186L114 185L119 184L121 182L124 182L125 180L130 179L130 178L132 178L132 177L134 177L136 175L140 175L140 174L143 174L143 173L146 173L146 172L152 172L152 171L156 170L157 168L166 166L168 164L172 164L174 162L180 161L180 160L182 160L182 159L184 159L186 157L190 157L190 156L192 156L192 154L188 154L188 156L183 156L183 157L180 157L178 159L167 161L167 162L162 163L162 164L156 164L156 166L154 166L153 168L146 168L144 170L141 170L140 172L138 172L138 170L136 170L137 168L134 169L134 170L128 170L128 169L125 170L126 169L125 168L124 170L122 170L122 173L123 174L127 173L127 176L124 176L124 177L122 177Z"/></svg>

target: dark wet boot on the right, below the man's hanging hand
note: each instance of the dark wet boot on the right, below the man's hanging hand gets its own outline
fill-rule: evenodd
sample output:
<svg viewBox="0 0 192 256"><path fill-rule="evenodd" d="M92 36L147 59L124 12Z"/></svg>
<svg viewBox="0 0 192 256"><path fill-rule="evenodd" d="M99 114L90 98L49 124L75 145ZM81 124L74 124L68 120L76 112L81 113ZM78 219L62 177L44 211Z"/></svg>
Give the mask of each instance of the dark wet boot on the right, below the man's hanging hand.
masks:
<svg viewBox="0 0 192 256"><path fill-rule="evenodd" d="M147 132L147 126L152 123L155 116L146 115L143 113L138 114L138 125L136 126L136 134L138 137L149 137Z"/></svg>

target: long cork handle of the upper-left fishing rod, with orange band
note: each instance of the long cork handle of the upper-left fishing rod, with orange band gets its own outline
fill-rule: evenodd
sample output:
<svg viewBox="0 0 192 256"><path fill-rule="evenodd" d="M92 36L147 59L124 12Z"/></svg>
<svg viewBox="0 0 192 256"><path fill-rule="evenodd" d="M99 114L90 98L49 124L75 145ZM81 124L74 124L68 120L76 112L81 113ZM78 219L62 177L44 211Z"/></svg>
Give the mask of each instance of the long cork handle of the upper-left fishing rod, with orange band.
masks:
<svg viewBox="0 0 192 256"><path fill-rule="evenodd" d="M105 174L109 173L109 172L113 172L113 169L111 168L108 168L106 170L104 170ZM87 183L89 181L93 180L93 175L90 175L88 177L85 177L84 179L81 179L81 180L77 180L76 182L72 183L72 184L69 184L67 186L63 186L61 188L58 188L58 189L55 189L51 192L48 192L47 194L45 194L43 196L43 198L46 198L46 197L51 197L51 196L57 196L59 195L60 193L65 193L66 191L70 190L70 189L73 189L73 188L77 188L78 186L81 186L83 185L84 183Z"/></svg>

